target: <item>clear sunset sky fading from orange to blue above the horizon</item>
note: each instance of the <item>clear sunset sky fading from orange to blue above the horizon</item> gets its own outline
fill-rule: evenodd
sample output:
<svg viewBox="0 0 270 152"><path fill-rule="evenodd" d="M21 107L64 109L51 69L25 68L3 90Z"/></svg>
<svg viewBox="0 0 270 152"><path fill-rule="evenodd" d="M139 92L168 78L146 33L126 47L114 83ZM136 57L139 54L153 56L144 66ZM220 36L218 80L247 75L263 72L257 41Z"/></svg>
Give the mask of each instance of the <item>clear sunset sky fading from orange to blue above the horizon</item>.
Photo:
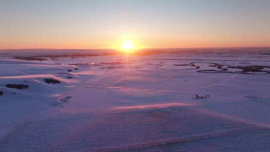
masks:
<svg viewBox="0 0 270 152"><path fill-rule="evenodd" d="M270 0L0 0L0 49L270 46Z"/></svg>

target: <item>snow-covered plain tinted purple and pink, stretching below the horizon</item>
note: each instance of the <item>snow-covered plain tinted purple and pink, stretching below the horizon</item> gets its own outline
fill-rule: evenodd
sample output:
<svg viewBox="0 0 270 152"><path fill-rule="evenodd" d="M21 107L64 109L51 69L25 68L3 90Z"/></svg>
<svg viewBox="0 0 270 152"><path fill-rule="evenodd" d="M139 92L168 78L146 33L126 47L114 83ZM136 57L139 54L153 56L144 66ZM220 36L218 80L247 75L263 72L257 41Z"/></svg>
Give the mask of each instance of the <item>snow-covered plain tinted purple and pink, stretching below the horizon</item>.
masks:
<svg viewBox="0 0 270 152"><path fill-rule="evenodd" d="M270 151L270 48L147 52L0 50L0 151Z"/></svg>

